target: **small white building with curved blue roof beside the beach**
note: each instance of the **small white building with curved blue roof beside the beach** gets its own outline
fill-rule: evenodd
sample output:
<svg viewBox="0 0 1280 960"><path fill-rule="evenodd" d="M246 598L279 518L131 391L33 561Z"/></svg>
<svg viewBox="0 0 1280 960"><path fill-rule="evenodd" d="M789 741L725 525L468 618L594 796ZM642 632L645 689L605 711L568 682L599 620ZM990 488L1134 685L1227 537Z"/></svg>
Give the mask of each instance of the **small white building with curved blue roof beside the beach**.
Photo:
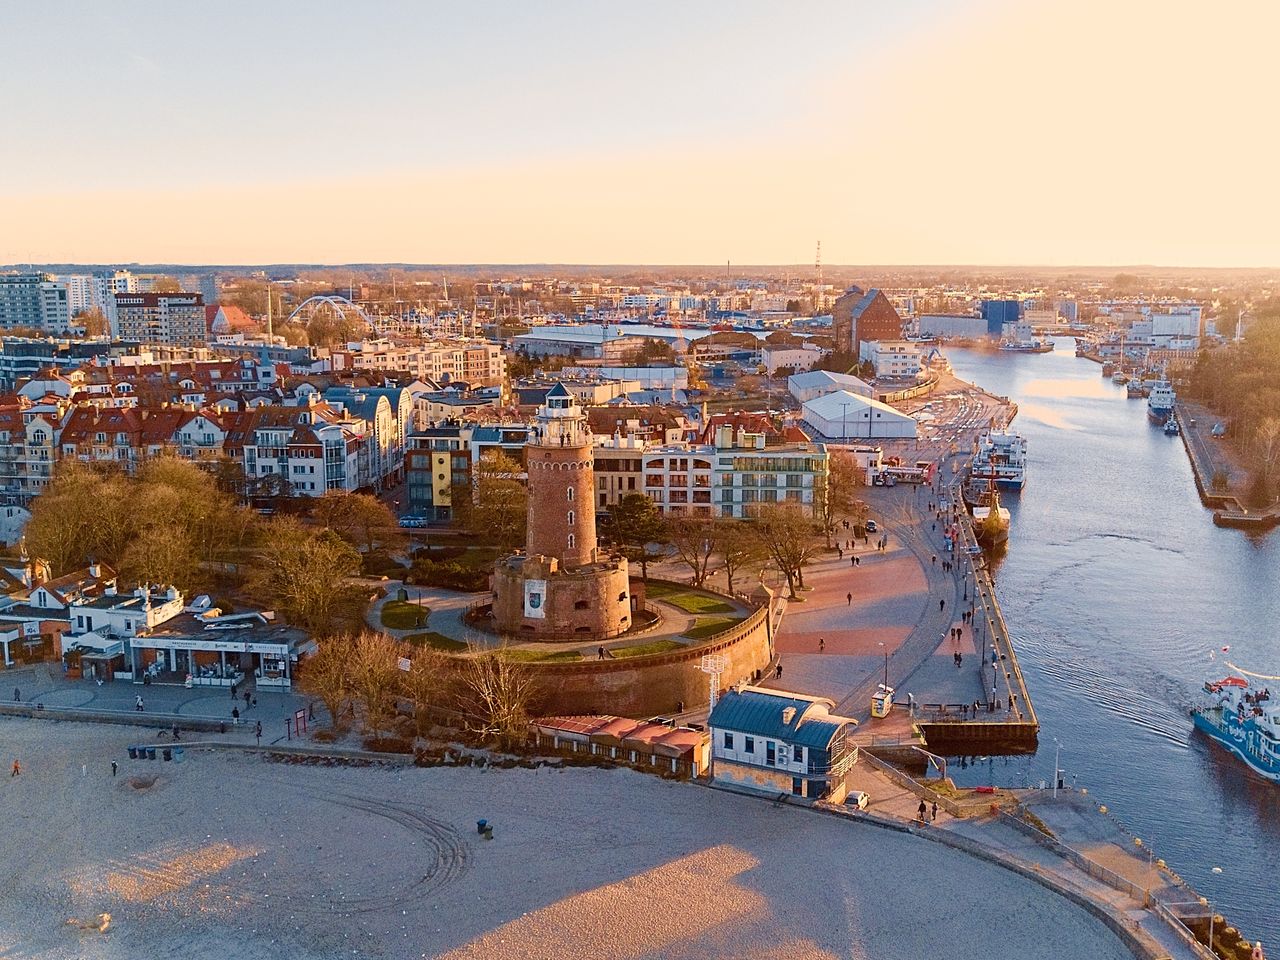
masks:
<svg viewBox="0 0 1280 960"><path fill-rule="evenodd" d="M708 719L712 780L763 794L842 803L845 774L858 762L858 721L835 701L745 686L730 690Z"/></svg>

